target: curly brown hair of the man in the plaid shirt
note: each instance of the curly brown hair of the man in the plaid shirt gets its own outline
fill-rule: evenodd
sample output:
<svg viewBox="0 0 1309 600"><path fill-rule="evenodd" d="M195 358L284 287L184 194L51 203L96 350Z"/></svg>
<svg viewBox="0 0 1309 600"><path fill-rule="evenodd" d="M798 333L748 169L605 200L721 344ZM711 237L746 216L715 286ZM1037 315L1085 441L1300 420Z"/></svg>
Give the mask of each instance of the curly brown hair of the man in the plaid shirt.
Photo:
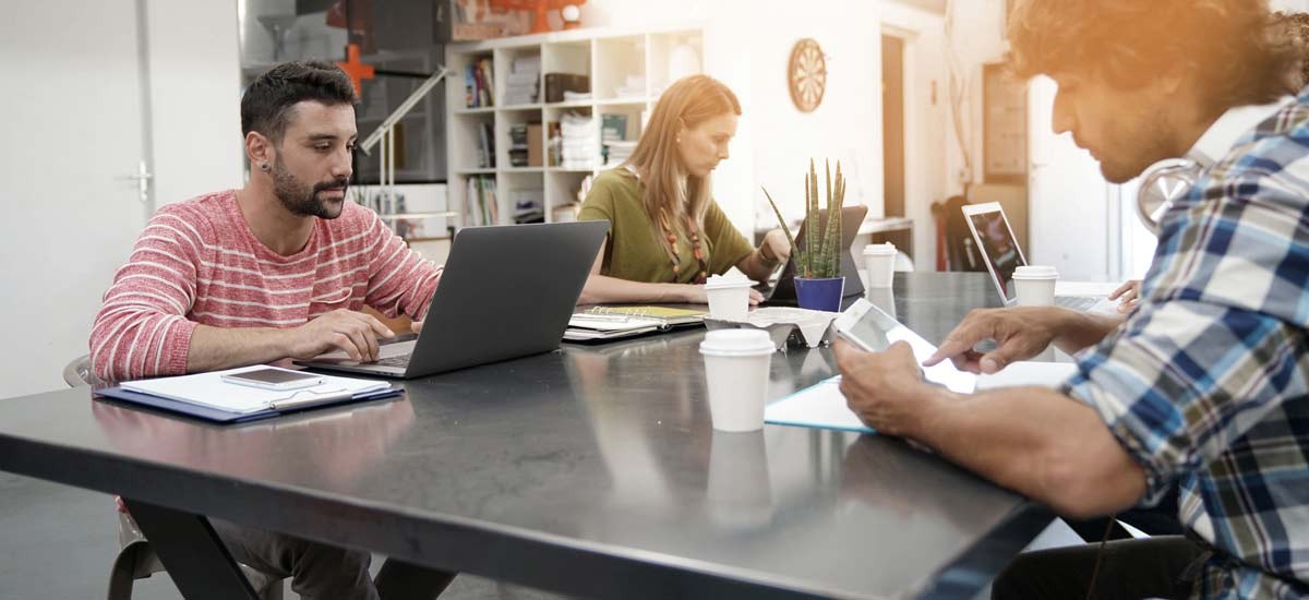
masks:
<svg viewBox="0 0 1309 600"><path fill-rule="evenodd" d="M1011 67L1076 73L1119 89L1185 69L1215 109L1271 102L1295 86L1302 46L1278 35L1266 0L1018 0Z"/></svg>

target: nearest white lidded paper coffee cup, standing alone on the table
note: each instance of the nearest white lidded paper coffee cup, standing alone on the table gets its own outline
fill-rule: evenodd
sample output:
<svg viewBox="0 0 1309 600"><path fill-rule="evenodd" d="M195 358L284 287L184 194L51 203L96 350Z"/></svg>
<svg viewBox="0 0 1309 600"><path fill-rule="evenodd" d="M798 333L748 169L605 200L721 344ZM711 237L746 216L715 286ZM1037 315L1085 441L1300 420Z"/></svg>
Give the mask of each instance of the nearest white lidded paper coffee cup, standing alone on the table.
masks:
<svg viewBox="0 0 1309 600"><path fill-rule="evenodd" d="M704 380L709 418L719 431L763 428L768 368L776 348L762 329L719 329L704 334Z"/></svg>

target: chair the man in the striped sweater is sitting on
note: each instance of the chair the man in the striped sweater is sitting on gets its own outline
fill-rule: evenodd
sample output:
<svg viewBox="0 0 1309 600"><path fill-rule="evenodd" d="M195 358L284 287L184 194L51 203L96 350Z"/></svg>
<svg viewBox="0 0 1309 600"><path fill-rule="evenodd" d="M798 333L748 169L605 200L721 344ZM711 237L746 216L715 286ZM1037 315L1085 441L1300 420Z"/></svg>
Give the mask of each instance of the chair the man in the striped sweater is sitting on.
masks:
<svg viewBox="0 0 1309 600"><path fill-rule="evenodd" d="M105 381L96 377L90 367L90 356L77 356L64 367L64 383L69 388L101 385ZM164 571L164 563L136 527L136 520L126 510L118 511L118 557L109 571L109 600L130 600L132 586L137 579L145 579ZM259 593L260 600L281 600L281 579L241 565L241 572L250 580L250 587Z"/></svg>

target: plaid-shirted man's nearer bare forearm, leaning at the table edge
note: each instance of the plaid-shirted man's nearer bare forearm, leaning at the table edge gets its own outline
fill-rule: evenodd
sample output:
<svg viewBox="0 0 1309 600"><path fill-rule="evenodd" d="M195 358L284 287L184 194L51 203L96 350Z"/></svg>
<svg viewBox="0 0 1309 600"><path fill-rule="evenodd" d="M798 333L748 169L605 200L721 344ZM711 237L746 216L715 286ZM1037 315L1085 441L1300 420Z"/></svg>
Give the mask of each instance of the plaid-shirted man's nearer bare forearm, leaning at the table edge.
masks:
<svg viewBox="0 0 1309 600"><path fill-rule="evenodd" d="M933 388L908 438L1062 515L1107 515L1145 491L1144 472L1100 417L1047 388Z"/></svg>

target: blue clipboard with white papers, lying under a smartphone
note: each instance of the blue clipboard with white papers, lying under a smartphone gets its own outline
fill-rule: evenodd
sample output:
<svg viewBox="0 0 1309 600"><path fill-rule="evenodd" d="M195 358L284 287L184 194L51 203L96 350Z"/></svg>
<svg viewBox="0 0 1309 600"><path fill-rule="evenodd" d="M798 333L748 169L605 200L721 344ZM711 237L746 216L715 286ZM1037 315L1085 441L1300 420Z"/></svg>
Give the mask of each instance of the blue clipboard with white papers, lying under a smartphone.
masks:
<svg viewBox="0 0 1309 600"><path fill-rule="evenodd" d="M267 390L223 383L223 375L263 368L241 367L211 373L131 381L96 392L111 398L182 414L212 423L247 423L302 410L339 406L399 396L403 389L386 381L322 376L313 388Z"/></svg>

